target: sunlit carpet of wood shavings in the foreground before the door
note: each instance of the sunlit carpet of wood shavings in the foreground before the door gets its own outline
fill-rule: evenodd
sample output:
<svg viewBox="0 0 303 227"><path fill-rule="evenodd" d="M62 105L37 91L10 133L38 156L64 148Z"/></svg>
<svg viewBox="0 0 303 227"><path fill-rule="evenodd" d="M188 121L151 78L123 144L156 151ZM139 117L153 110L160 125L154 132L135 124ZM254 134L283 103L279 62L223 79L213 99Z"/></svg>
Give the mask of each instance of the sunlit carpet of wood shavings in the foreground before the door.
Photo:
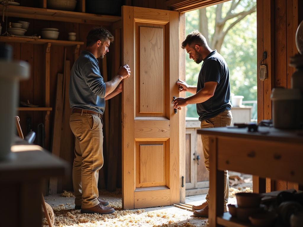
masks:
<svg viewBox="0 0 303 227"><path fill-rule="evenodd" d="M121 196L121 195L120 195ZM192 211L174 206L155 207L155 210L145 209L122 210L122 199L110 202L108 206L115 212L107 215L81 214L80 210L65 207L64 204L53 207L55 214L54 227L200 227L208 226L207 218L193 216ZM46 219L42 219L43 227L47 227Z"/></svg>

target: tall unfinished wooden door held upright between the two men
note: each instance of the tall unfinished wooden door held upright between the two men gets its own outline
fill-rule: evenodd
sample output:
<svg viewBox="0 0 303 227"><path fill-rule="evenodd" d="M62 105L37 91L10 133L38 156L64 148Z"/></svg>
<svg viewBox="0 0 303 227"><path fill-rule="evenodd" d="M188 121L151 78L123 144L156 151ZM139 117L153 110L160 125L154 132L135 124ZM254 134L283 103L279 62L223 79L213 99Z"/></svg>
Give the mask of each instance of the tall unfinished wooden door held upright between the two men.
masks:
<svg viewBox="0 0 303 227"><path fill-rule="evenodd" d="M122 207L179 203L179 13L122 7ZM184 135L185 136L185 135Z"/></svg>

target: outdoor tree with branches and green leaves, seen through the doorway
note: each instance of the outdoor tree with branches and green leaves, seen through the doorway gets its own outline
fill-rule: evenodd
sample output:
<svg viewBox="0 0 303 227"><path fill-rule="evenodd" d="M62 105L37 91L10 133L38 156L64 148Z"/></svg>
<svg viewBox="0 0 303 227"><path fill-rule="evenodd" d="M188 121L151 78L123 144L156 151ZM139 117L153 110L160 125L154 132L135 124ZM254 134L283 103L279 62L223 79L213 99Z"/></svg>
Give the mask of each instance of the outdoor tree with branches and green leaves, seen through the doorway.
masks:
<svg viewBox="0 0 303 227"><path fill-rule="evenodd" d="M231 92L257 100L256 0L232 0L186 13L186 34L198 29L226 60ZM196 85L201 64L186 56L186 82ZM187 93L186 96L191 95ZM188 105L187 117L197 117Z"/></svg>

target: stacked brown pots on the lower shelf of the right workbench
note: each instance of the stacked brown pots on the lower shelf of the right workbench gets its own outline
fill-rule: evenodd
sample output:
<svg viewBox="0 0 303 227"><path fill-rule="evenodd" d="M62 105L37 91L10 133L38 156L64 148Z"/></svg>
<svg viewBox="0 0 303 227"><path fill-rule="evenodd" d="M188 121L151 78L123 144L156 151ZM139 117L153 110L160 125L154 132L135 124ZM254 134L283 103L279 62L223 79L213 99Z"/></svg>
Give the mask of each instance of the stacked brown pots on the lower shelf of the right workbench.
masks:
<svg viewBox="0 0 303 227"><path fill-rule="evenodd" d="M261 203L262 196L257 193L239 192L237 198L237 219L242 222L249 222L249 216L260 214L264 211L264 205Z"/></svg>

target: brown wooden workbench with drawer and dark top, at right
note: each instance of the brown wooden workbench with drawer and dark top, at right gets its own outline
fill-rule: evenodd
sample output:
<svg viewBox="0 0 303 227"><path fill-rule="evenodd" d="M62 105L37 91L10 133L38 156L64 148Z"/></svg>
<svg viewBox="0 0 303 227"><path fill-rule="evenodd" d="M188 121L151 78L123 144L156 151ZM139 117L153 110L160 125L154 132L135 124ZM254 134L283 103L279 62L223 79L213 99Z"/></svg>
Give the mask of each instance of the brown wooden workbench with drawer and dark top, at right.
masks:
<svg viewBox="0 0 303 227"><path fill-rule="evenodd" d="M302 130L259 126L258 132L248 132L248 128L219 127L199 129L197 133L210 137L209 227L252 226L223 212L225 169L303 184Z"/></svg>

